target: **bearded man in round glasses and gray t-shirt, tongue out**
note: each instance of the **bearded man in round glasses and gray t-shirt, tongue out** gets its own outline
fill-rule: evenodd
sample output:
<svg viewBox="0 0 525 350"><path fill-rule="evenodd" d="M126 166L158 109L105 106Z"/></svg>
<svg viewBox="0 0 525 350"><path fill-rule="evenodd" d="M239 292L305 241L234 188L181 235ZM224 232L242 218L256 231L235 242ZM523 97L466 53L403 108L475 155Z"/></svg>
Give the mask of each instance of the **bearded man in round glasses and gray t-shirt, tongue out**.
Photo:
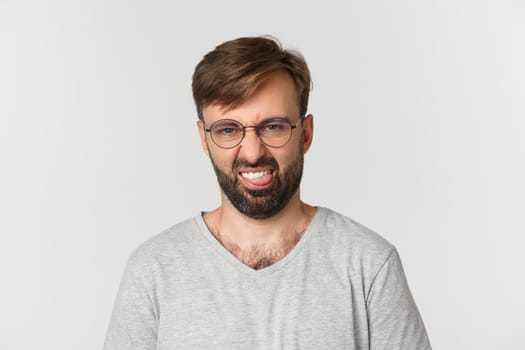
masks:
<svg viewBox="0 0 525 350"><path fill-rule="evenodd" d="M395 248L303 203L313 137L304 59L268 38L193 75L221 205L130 257L105 349L430 349Z"/></svg>

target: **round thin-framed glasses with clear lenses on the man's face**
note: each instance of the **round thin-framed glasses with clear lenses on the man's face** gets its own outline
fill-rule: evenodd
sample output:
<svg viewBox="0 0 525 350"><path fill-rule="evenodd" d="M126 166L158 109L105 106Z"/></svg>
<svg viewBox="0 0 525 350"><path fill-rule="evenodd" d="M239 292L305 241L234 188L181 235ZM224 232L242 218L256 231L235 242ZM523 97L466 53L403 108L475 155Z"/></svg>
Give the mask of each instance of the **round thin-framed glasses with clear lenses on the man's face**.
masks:
<svg viewBox="0 0 525 350"><path fill-rule="evenodd" d="M270 118L257 125L244 126L236 120L220 119L204 131L209 132L213 143L220 148L234 148L244 139L246 129L255 129L255 133L263 144L268 147L283 147L292 138L292 130L297 127L304 117L291 124L285 118Z"/></svg>

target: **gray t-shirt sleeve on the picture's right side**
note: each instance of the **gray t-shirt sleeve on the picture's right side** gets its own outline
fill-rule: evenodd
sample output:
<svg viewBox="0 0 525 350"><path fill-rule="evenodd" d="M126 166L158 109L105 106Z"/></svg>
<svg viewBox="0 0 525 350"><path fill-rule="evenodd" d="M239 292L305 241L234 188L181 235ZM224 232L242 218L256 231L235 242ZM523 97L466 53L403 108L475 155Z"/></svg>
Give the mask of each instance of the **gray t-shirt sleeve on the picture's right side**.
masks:
<svg viewBox="0 0 525 350"><path fill-rule="evenodd" d="M371 350L430 350L395 249L377 273L367 298Z"/></svg>

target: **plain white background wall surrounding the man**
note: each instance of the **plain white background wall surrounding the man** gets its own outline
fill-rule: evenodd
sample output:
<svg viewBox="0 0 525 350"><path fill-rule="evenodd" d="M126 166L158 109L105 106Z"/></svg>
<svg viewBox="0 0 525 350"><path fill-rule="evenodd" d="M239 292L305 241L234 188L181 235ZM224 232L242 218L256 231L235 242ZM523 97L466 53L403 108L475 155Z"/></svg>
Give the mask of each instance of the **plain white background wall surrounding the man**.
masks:
<svg viewBox="0 0 525 350"><path fill-rule="evenodd" d="M101 348L128 254L218 204L222 41L307 58L303 198L401 254L435 349L525 349L525 2L2 1L0 348Z"/></svg>

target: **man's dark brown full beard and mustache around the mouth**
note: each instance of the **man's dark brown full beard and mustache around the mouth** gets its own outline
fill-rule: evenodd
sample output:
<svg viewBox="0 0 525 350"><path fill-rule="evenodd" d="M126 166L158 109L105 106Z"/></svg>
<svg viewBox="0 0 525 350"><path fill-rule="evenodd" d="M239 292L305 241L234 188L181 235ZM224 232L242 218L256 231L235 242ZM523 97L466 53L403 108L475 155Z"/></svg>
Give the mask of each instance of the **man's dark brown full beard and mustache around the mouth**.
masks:
<svg viewBox="0 0 525 350"><path fill-rule="evenodd" d="M233 163L231 174L219 169L213 158L210 157L210 159L219 186L226 197L239 212L253 219L266 219L281 211L299 189L303 175L303 152L299 153L299 156L283 173L281 173L279 164L273 157L262 158L255 164L237 159ZM271 186L263 190L252 190L244 187L239 181L238 169L263 166L271 166L273 169Z"/></svg>

